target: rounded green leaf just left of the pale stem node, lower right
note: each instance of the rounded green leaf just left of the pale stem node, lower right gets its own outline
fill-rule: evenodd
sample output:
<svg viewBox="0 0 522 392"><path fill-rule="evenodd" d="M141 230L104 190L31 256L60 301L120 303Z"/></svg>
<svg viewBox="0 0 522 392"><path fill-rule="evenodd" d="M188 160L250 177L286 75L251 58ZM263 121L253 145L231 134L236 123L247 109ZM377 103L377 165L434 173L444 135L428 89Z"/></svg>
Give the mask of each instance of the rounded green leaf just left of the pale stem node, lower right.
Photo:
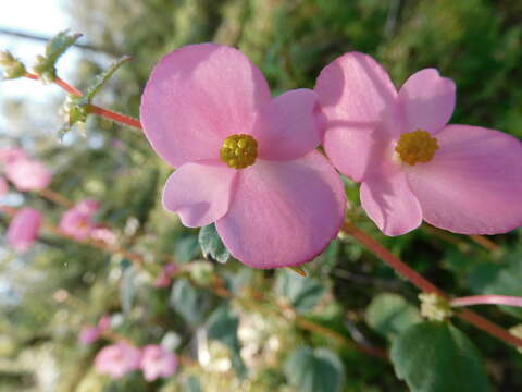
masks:
<svg viewBox="0 0 522 392"><path fill-rule="evenodd" d="M365 318L371 328L388 339L422 321L415 306L393 293L376 295L366 308Z"/></svg>

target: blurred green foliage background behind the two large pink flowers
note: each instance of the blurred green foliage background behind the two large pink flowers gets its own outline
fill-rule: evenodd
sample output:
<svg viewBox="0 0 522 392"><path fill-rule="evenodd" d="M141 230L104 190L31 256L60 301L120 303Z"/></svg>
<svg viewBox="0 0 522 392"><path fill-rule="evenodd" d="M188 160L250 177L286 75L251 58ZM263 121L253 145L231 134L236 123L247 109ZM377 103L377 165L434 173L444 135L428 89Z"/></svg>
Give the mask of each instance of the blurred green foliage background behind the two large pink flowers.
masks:
<svg viewBox="0 0 522 392"><path fill-rule="evenodd" d="M458 85L453 123L522 137L522 2L508 0L82 0L65 1L71 26L99 51L83 51L74 79L85 88L107 59L130 54L97 105L138 115L153 64L173 49L216 41L238 47L266 75L274 94L313 87L321 69L351 50L374 56L397 86L427 66ZM23 101L2 102L9 126L39 133L21 144L54 172L52 189L72 200L101 201L98 219L121 246L142 256L137 268L109 254L44 232L28 254L2 250L0 389L2 391L403 391L388 360L355 348L389 348L419 322L417 291L350 237L340 236L313 262L309 278L258 271L235 260L202 260L198 231L165 212L160 194L172 171L136 131L100 119L58 138L58 112L32 122ZM23 136L22 136L23 135ZM2 142L3 143L3 142ZM473 238L423 225L387 238L362 213L346 181L350 219L411 267L455 295L522 295L521 231ZM15 195L14 195L15 196ZM58 222L63 208L37 195L25 204ZM18 197L18 201L22 200ZM4 233L7 217L1 217ZM167 257L183 265L169 287L154 287ZM214 255L215 257L215 255ZM226 286L216 292L215 282ZM520 311L481 314L513 327ZM163 342L182 357L181 371L146 383L139 373L112 381L92 358L107 341L80 346L82 326L112 315L112 326L138 345ZM326 327L332 334L307 327ZM522 357L455 321L480 348L499 391L522 389ZM340 336L340 338L339 338ZM420 364L419 366L422 366Z"/></svg>

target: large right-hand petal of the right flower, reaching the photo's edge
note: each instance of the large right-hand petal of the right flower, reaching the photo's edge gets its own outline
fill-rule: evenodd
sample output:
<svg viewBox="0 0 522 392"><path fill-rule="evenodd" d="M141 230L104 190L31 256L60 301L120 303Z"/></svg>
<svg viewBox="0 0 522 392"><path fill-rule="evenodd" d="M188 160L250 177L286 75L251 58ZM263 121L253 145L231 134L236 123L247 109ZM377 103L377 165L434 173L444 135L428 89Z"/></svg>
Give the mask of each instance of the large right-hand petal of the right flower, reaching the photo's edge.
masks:
<svg viewBox="0 0 522 392"><path fill-rule="evenodd" d="M463 234L498 234L522 224L522 145L505 133L449 125L431 162L407 168L424 219Z"/></svg>

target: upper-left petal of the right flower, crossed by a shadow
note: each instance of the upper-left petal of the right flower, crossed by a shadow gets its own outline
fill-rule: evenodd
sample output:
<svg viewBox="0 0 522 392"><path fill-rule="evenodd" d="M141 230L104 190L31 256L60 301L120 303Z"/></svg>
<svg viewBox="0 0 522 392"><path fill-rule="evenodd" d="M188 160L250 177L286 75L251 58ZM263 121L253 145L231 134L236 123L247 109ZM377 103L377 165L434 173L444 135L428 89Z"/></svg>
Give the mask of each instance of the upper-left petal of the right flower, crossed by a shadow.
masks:
<svg viewBox="0 0 522 392"><path fill-rule="evenodd" d="M326 154L339 171L362 181L375 149L403 127L394 84L370 56L350 52L321 72L314 89L326 118Z"/></svg>

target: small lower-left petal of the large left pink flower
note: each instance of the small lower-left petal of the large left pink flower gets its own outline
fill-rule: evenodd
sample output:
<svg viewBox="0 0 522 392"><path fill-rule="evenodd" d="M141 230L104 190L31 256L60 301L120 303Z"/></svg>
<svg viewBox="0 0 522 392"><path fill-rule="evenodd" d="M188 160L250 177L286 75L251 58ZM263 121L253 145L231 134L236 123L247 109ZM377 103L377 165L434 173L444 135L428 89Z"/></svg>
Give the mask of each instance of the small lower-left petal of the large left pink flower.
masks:
<svg viewBox="0 0 522 392"><path fill-rule="evenodd" d="M188 228L199 228L228 211L237 171L213 160L185 163L166 181L163 206Z"/></svg>

